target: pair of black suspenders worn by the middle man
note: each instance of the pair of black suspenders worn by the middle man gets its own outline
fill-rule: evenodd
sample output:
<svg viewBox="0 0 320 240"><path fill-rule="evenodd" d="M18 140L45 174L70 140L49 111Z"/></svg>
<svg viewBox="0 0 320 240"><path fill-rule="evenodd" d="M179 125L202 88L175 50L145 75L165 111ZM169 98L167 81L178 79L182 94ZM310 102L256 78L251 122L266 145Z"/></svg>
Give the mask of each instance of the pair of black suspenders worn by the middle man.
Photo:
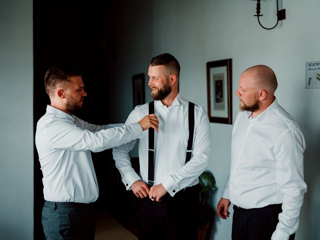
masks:
<svg viewBox="0 0 320 240"><path fill-rule="evenodd" d="M154 113L154 101L149 102L149 114ZM191 159L193 131L194 131L194 103L189 101L188 107L188 123L189 123L189 138L186 148L185 163ZM154 129L150 127L149 145L148 145L148 186L151 187L154 182Z"/></svg>

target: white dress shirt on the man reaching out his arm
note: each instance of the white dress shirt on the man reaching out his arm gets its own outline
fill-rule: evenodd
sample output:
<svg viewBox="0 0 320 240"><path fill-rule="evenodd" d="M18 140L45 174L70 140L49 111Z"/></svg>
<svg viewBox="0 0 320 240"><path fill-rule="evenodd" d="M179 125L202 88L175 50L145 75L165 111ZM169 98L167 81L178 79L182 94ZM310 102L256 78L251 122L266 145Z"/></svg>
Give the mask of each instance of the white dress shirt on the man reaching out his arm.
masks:
<svg viewBox="0 0 320 240"><path fill-rule="evenodd" d="M91 151L102 151L142 136L138 123L93 125L47 105L38 120L35 145L48 201L93 202L98 184Z"/></svg>

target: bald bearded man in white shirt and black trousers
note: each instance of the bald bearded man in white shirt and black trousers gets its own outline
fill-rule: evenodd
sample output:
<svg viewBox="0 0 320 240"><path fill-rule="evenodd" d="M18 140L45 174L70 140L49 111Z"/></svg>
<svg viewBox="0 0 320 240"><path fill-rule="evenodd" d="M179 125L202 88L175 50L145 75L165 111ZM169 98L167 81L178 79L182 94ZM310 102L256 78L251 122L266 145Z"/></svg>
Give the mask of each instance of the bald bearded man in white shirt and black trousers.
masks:
<svg viewBox="0 0 320 240"><path fill-rule="evenodd" d="M231 166L217 214L233 205L232 240L294 239L306 192L303 134L277 102L271 68L256 65L239 78Z"/></svg>

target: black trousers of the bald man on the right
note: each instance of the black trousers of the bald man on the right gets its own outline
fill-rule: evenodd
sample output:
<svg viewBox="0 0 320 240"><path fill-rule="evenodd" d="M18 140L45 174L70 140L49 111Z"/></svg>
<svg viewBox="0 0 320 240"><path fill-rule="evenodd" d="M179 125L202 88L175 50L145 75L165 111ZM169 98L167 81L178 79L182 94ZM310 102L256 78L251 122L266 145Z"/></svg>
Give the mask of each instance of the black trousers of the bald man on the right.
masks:
<svg viewBox="0 0 320 240"><path fill-rule="evenodd" d="M261 208L244 209L233 206L232 240L270 240L282 204L272 204ZM289 240L294 240L295 233Z"/></svg>

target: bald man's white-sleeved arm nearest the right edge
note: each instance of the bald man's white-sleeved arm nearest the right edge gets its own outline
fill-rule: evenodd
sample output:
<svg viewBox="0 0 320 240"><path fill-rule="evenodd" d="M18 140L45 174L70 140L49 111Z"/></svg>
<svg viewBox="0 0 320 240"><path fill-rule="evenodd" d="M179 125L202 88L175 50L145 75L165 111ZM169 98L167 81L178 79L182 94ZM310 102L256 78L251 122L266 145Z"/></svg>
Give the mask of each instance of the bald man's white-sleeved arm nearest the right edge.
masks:
<svg viewBox="0 0 320 240"><path fill-rule="evenodd" d="M282 212L271 238L288 239L297 230L299 211L306 184L303 180L303 135L296 129L287 129L274 145L277 186L283 194Z"/></svg>

